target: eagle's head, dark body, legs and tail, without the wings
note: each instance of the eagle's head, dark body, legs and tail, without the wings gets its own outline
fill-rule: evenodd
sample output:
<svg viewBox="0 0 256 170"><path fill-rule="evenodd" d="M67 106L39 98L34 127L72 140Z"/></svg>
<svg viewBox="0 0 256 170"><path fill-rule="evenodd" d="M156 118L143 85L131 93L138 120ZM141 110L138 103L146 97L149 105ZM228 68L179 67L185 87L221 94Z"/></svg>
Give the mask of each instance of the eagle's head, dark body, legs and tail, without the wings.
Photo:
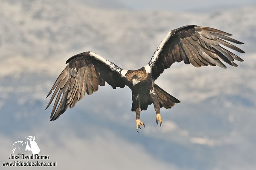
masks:
<svg viewBox="0 0 256 170"><path fill-rule="evenodd" d="M151 73L147 73L145 67L134 71L128 70L125 76L126 85L132 92L131 111L135 111L136 113L137 130L140 125L144 125L144 123L140 121L140 111L147 110L148 105L154 104L157 113L156 121L157 124L160 122L161 125L160 108L162 108L163 105L165 108L172 108L175 103L180 102L156 85L154 79L151 77Z"/></svg>

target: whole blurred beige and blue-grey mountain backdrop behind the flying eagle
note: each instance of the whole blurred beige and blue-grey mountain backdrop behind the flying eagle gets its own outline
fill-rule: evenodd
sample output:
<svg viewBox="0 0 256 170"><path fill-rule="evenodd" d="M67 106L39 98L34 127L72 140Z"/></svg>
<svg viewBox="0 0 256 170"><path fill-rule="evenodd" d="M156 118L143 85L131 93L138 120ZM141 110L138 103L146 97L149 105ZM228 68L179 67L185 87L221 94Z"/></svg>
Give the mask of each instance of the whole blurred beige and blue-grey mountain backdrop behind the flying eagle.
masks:
<svg viewBox="0 0 256 170"><path fill-rule="evenodd" d="M53 169L254 170L256 4L171 2L0 0L0 161L15 141L35 135ZM180 62L164 71L156 83L181 103L161 109L161 127L151 105L137 133L131 90L109 85L49 122L46 96L68 58L93 51L135 70L168 31L190 24L233 34L244 42L244 62L227 69Z"/></svg>

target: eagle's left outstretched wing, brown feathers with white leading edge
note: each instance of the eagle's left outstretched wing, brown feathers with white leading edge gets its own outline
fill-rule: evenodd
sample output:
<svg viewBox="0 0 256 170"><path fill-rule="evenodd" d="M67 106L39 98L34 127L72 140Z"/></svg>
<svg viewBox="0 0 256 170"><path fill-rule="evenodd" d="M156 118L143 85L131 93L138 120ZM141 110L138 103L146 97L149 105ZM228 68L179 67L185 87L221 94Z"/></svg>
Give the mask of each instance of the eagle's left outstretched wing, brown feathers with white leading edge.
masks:
<svg viewBox="0 0 256 170"><path fill-rule="evenodd" d="M68 59L67 63L67 67L61 72L47 95L48 97L55 89L47 105L48 108L58 93L52 108L51 120L58 119L68 106L73 108L85 93L91 95L94 91L98 91L98 86L104 86L105 82L114 89L125 87L124 77L127 70L122 70L96 53L88 51L77 54Z"/></svg>

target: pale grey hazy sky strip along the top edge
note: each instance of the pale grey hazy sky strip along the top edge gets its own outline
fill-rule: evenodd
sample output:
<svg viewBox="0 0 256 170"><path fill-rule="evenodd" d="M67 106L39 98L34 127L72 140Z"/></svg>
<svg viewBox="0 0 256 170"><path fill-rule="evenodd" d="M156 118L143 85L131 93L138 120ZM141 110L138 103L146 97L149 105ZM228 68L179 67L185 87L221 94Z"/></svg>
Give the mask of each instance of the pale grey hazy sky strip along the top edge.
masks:
<svg viewBox="0 0 256 170"><path fill-rule="evenodd" d="M256 4L255 0L77 0L103 8L129 8L134 10L217 11Z"/></svg>

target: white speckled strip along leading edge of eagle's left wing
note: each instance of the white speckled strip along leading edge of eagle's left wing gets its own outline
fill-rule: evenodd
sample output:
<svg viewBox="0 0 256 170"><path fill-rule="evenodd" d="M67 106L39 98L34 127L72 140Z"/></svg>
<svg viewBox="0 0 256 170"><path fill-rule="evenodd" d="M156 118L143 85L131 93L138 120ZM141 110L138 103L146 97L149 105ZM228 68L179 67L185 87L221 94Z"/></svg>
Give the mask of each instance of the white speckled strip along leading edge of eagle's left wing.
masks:
<svg viewBox="0 0 256 170"><path fill-rule="evenodd" d="M125 77L125 74L127 73L127 70L123 70L122 68L115 65L113 62L109 61L108 59L105 59L104 57L100 56L99 54L96 54L94 52L89 51L89 54L94 57L95 59L105 63L111 70L116 71L119 73L122 77Z"/></svg>

